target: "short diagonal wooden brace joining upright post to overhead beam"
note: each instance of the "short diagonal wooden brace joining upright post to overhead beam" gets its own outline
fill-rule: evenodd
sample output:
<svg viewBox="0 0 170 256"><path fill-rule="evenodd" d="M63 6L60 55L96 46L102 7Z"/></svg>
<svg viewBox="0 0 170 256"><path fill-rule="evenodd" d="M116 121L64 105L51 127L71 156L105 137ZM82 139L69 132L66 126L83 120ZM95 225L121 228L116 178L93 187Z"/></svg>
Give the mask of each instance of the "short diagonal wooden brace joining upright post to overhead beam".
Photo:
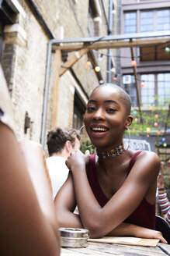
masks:
<svg viewBox="0 0 170 256"><path fill-rule="evenodd" d="M80 51L74 52L71 56L68 57L68 61L64 62L64 66L60 67L59 76L62 76L68 69L71 68L83 55L88 53L89 49L84 48Z"/></svg>

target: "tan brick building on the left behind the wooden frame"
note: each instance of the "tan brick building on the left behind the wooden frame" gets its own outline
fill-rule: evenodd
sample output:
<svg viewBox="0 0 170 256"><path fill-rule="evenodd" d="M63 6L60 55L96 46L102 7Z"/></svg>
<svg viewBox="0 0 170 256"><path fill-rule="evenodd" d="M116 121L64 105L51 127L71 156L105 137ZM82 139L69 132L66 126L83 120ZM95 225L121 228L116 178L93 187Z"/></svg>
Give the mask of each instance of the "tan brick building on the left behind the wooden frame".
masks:
<svg viewBox="0 0 170 256"><path fill-rule="evenodd" d="M18 139L45 145L50 128L82 126L88 95L107 79L107 58L100 62L98 73L94 70L107 50L77 55L75 65L59 76L61 66L76 52L53 47L49 52L48 46L55 39L117 34L116 2L120 1L0 1L0 58L16 112ZM88 60L90 67L85 66ZM113 58L109 65L116 65Z"/></svg>

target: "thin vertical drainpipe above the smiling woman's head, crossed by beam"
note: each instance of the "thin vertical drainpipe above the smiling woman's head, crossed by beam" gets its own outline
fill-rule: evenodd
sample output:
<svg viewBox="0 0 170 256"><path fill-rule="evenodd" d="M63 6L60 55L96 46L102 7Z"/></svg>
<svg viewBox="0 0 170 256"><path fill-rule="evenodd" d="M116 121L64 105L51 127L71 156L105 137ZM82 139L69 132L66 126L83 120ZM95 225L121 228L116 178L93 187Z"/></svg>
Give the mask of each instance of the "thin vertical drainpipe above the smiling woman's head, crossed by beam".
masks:
<svg viewBox="0 0 170 256"><path fill-rule="evenodd" d="M109 0L109 30L108 30L108 35L112 34L112 23L113 23L113 19L112 19L112 10L113 10L113 0ZM107 70L109 71L107 73L107 82L110 83L111 82L111 74L110 74L110 69L111 69L111 65L112 65L112 59L111 59L111 50L108 49L107 50Z"/></svg>

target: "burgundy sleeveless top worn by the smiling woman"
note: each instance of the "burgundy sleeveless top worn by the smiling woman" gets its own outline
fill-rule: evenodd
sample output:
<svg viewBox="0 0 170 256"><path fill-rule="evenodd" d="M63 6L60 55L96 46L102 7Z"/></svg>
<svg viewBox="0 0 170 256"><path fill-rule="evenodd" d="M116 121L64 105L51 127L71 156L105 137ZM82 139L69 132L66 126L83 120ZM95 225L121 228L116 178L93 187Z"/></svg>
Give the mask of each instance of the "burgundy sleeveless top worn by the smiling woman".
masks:
<svg viewBox="0 0 170 256"><path fill-rule="evenodd" d="M127 176L134 165L137 155L140 153L141 151L135 152L130 159ZM103 207L109 201L109 199L103 193L102 188L99 185L95 169L95 155L90 155L88 182L92 188L96 200L99 202L100 206ZM127 219L125 219L124 222L132 223L137 226L143 226L148 229L155 229L155 204L149 204L144 197L141 204L139 204L136 210Z"/></svg>

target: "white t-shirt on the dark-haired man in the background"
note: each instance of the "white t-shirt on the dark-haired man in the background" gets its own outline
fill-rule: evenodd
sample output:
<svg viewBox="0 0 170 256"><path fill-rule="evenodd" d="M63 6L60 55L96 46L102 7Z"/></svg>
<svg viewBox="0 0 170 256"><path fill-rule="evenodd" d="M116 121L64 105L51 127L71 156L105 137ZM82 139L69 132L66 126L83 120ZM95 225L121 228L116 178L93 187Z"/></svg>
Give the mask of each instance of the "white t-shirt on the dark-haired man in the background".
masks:
<svg viewBox="0 0 170 256"><path fill-rule="evenodd" d="M66 159L61 156L50 156L47 158L47 167L50 174L50 180L53 188L53 199L57 191L68 178L69 169L65 165Z"/></svg>

